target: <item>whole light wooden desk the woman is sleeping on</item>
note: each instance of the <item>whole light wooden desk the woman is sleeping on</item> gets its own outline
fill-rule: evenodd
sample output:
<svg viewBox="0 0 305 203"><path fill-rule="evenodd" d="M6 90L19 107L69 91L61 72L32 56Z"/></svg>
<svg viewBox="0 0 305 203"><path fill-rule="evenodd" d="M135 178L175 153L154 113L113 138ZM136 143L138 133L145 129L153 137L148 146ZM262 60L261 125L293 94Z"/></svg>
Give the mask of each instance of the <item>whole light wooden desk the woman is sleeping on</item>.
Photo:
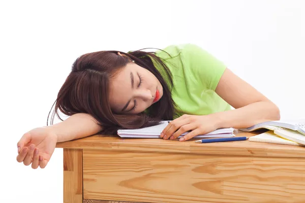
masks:
<svg viewBox="0 0 305 203"><path fill-rule="evenodd" d="M57 147L65 203L305 202L300 146L95 135Z"/></svg>

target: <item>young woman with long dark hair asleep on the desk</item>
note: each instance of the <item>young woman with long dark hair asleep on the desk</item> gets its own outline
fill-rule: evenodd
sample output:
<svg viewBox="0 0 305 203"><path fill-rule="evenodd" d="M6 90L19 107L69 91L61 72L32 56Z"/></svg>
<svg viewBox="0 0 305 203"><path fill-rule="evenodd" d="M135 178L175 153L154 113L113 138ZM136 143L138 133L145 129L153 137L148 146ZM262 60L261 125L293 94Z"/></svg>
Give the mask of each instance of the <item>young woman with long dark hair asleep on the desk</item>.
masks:
<svg viewBox="0 0 305 203"><path fill-rule="evenodd" d="M160 120L173 120L161 138L174 140L191 131L179 139L187 141L218 128L280 119L279 109L268 98L192 44L156 53L84 54L58 92L52 121L58 110L70 117L26 132L17 144L18 162L44 168L57 142Z"/></svg>

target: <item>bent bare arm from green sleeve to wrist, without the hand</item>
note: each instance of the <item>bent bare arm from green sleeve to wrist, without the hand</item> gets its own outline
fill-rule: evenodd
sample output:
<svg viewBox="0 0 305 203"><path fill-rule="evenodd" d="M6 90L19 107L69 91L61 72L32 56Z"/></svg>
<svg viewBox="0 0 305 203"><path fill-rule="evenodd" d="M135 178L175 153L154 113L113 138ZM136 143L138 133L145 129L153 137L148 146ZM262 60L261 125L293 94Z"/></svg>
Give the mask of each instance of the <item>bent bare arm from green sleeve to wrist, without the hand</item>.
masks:
<svg viewBox="0 0 305 203"><path fill-rule="evenodd" d="M216 88L234 110L212 114L217 127L246 128L260 122L280 120L280 110L263 94L226 69Z"/></svg>

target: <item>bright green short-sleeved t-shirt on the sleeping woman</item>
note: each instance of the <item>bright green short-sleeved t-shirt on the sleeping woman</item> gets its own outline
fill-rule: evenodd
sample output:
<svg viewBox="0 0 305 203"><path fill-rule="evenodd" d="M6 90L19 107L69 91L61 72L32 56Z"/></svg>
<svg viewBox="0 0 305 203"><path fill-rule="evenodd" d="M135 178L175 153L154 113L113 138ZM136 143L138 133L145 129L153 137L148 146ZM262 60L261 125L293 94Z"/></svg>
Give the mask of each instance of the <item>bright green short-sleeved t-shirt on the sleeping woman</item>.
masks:
<svg viewBox="0 0 305 203"><path fill-rule="evenodd" d="M171 45L157 51L173 75L172 98L177 105L175 118L183 114L207 115L227 111L231 106L215 89L226 66L193 44ZM158 68L158 67L157 67Z"/></svg>

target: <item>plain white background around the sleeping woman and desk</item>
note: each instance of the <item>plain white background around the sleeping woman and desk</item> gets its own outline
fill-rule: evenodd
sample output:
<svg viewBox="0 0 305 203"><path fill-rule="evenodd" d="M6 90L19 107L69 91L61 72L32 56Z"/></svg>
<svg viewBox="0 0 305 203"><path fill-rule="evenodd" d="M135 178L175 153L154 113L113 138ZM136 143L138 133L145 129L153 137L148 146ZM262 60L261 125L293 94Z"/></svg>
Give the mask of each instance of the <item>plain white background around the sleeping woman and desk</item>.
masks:
<svg viewBox="0 0 305 203"><path fill-rule="evenodd" d="M195 43L304 117L304 1L1 1L1 201L62 202L63 150L44 170L16 161L22 134L46 125L79 55Z"/></svg>

